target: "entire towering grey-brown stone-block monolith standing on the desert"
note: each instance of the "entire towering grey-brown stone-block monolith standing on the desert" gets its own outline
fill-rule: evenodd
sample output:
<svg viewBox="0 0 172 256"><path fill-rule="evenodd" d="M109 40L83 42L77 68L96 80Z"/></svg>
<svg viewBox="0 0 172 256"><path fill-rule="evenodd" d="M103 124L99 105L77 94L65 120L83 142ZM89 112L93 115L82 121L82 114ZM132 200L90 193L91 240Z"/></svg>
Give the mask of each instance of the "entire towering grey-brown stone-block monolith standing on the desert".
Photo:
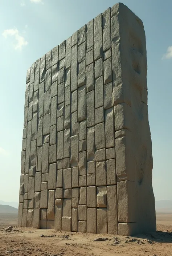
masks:
<svg viewBox="0 0 172 256"><path fill-rule="evenodd" d="M143 23L121 3L33 63L19 226L155 231L146 76Z"/></svg>

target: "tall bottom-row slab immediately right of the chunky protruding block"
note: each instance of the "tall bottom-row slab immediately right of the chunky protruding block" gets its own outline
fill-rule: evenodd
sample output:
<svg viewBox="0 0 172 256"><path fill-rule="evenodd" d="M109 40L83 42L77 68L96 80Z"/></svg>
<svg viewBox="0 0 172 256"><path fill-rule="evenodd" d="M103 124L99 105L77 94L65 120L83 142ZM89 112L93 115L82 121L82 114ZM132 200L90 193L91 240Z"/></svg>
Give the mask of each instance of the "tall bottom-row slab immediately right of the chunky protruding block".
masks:
<svg viewBox="0 0 172 256"><path fill-rule="evenodd" d="M107 224L109 234L118 234L118 209L116 186L107 186Z"/></svg>

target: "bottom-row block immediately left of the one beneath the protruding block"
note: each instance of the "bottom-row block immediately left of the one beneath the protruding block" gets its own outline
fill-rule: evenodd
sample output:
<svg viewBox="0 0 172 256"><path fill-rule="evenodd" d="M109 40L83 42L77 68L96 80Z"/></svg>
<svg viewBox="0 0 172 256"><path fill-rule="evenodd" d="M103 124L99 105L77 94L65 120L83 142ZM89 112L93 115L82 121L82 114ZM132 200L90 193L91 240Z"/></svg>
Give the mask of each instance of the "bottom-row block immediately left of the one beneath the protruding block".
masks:
<svg viewBox="0 0 172 256"><path fill-rule="evenodd" d="M97 233L97 209L88 208L87 209L87 232Z"/></svg>

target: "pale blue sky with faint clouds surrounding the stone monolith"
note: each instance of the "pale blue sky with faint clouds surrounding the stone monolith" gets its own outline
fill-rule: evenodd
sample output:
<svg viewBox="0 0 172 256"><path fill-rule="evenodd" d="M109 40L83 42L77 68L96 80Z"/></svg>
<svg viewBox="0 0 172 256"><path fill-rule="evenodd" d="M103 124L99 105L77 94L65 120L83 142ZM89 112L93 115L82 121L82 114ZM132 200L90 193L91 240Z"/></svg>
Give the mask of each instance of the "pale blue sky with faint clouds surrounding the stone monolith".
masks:
<svg viewBox="0 0 172 256"><path fill-rule="evenodd" d="M0 200L18 201L26 70L115 0L0 0ZM172 1L124 0L142 19L156 200L172 199Z"/></svg>

